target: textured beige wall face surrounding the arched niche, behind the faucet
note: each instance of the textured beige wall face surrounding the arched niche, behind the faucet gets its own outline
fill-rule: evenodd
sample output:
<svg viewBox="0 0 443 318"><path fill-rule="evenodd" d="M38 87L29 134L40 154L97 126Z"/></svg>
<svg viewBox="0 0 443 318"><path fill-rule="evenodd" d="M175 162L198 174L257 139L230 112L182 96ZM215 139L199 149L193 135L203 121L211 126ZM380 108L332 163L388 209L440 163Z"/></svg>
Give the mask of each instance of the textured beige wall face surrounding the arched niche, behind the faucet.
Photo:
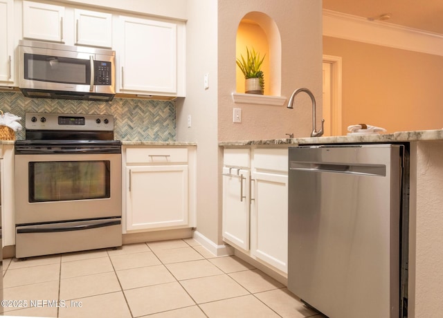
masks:
<svg viewBox="0 0 443 318"><path fill-rule="evenodd" d="M295 109L286 106L235 104L235 39L237 27L251 11L264 12L280 30L282 41L281 95L289 99L296 88L313 91L322 104L322 11L320 1L219 1L219 140L286 138L285 133L307 137L311 133L311 100L297 97ZM242 109L242 123L233 123L233 108ZM319 112L321 109L319 106ZM320 122L320 120L318 120Z"/></svg>

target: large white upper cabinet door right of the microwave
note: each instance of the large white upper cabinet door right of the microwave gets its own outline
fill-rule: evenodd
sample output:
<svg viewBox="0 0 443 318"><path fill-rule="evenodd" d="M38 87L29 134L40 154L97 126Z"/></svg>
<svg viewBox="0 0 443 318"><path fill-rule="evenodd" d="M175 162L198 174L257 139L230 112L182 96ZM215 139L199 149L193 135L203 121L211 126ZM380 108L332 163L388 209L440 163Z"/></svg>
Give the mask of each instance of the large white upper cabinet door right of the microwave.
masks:
<svg viewBox="0 0 443 318"><path fill-rule="evenodd" d="M177 93L177 24L122 17L120 89Z"/></svg>

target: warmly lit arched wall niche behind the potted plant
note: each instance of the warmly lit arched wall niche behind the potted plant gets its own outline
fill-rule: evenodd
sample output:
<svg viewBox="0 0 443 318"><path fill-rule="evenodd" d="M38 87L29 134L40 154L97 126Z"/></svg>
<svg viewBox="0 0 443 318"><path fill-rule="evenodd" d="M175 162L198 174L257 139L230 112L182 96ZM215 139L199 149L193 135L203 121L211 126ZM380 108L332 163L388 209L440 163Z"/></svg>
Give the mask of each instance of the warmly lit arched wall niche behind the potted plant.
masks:
<svg viewBox="0 0 443 318"><path fill-rule="evenodd" d="M235 56L246 57L246 47L260 53L264 62L264 95L280 96L282 84L282 41L275 21L263 12L248 12L237 28ZM237 93L244 93L244 75L235 64Z"/></svg>

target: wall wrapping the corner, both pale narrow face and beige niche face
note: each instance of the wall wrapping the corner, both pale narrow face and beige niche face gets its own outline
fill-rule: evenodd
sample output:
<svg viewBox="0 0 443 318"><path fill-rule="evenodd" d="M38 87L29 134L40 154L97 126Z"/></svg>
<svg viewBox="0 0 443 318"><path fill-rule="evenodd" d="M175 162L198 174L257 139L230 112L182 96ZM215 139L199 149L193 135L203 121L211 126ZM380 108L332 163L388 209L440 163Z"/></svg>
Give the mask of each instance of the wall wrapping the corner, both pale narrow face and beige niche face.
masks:
<svg viewBox="0 0 443 318"><path fill-rule="evenodd" d="M221 140L285 138L311 132L311 101L300 95L296 109L234 104L237 27L248 12L273 18L282 38L282 95L310 88L321 105L322 14L320 1L188 0L186 98L177 102L177 140L196 141L197 231L215 245L221 239ZM209 88L204 89L204 74ZM233 108L243 122L233 124ZM187 118L191 115L192 127Z"/></svg>

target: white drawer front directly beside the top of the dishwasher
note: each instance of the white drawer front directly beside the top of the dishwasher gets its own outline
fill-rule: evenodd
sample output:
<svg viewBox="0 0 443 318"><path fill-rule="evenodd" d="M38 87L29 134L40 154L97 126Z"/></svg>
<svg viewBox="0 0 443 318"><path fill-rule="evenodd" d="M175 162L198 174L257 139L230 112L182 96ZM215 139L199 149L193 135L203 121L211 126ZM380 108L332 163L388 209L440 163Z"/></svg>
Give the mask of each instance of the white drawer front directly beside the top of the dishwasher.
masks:
<svg viewBox="0 0 443 318"><path fill-rule="evenodd" d="M255 149L254 168L288 171L288 149Z"/></svg>

